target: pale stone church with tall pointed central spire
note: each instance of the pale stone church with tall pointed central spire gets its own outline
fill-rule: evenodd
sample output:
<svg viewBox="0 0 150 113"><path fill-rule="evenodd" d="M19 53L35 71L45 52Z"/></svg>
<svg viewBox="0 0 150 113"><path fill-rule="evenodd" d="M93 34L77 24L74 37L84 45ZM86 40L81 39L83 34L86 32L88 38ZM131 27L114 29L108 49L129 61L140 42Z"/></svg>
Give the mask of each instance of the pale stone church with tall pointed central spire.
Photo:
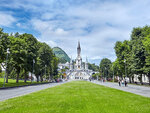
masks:
<svg viewBox="0 0 150 113"><path fill-rule="evenodd" d="M75 62L70 60L69 63L69 71L68 71L68 78L69 79L89 79L91 77L91 70L88 69L88 61L86 58L85 62L82 62L81 57L81 47L80 42L78 42L77 47L77 57L75 59Z"/></svg>

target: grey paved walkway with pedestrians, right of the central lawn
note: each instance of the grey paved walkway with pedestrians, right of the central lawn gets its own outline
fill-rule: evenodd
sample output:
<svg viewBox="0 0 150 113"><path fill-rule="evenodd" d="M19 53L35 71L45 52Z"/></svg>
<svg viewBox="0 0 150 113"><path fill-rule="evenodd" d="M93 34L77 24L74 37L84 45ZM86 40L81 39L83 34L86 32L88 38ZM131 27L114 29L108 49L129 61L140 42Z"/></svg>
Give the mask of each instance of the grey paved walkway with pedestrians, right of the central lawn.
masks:
<svg viewBox="0 0 150 113"><path fill-rule="evenodd" d="M118 83L112 83L112 82L101 82L101 81L92 81L93 83L127 91L130 93L134 93L137 95L145 96L145 97L150 97L150 87L145 87L145 86L137 86L137 85L130 85L128 84L128 87L124 86L119 86Z"/></svg>

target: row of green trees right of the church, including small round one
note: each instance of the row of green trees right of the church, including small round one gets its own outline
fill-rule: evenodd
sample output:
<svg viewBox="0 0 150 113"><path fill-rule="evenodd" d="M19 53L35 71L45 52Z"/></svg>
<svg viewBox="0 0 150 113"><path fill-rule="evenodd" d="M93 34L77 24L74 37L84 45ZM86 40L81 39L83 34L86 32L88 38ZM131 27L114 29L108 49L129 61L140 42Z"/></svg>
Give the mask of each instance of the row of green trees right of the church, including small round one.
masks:
<svg viewBox="0 0 150 113"><path fill-rule="evenodd" d="M129 77L134 82L134 75L138 75L142 83L142 76L149 78L150 84L150 27L133 28L131 39L115 44L117 59L111 63L109 59L103 59L100 63L100 72L107 77ZM105 71L107 70L107 71ZM104 74L108 73L108 74Z"/></svg>

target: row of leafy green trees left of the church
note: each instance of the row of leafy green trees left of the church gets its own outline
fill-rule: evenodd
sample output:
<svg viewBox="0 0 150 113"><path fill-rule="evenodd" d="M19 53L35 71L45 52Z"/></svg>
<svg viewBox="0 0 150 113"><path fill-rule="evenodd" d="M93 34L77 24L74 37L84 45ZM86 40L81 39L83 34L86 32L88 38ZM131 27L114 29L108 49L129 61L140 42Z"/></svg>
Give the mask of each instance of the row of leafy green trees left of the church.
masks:
<svg viewBox="0 0 150 113"><path fill-rule="evenodd" d="M28 79L29 72L39 78L52 79L57 75L58 59L46 43L39 42L31 34L8 34L0 28L0 65L6 68L8 78ZM32 79L32 78L31 78Z"/></svg>

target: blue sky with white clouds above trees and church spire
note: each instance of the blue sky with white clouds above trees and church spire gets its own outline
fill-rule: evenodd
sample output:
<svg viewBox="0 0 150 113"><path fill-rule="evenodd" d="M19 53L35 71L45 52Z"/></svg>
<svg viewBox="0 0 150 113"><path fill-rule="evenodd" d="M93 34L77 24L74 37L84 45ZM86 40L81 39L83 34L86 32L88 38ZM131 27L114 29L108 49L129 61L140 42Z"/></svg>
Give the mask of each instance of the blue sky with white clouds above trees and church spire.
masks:
<svg viewBox="0 0 150 113"><path fill-rule="evenodd" d="M99 65L115 61L116 41L129 40L134 27L150 25L150 0L0 0L0 27L30 33L73 59Z"/></svg>

